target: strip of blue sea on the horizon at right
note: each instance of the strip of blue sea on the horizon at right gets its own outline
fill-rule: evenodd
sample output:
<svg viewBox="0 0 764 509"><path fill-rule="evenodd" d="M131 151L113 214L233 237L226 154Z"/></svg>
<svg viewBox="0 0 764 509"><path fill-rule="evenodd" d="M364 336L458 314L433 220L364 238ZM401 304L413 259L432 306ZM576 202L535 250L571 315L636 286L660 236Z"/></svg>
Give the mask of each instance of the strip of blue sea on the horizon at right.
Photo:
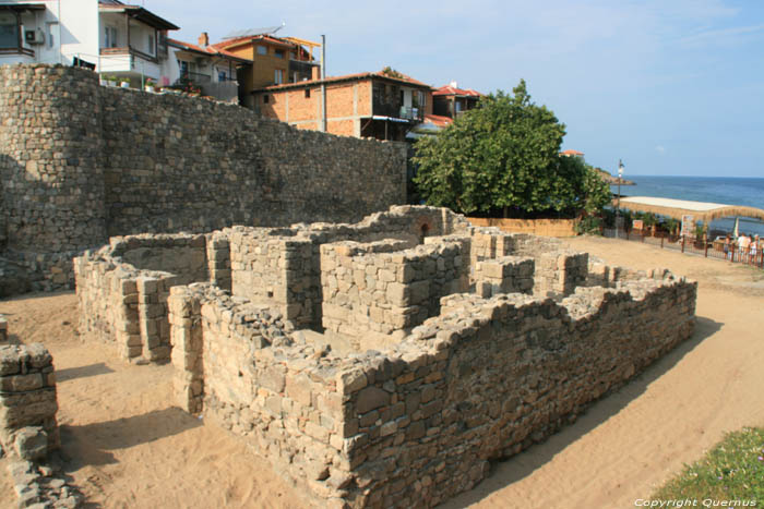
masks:
<svg viewBox="0 0 764 509"><path fill-rule="evenodd" d="M621 196L653 196L764 209L764 178L624 175L636 185L621 185ZM618 185L610 186L618 193ZM735 218L712 221L711 230L731 232ZM740 218L739 232L764 237L764 222Z"/></svg>

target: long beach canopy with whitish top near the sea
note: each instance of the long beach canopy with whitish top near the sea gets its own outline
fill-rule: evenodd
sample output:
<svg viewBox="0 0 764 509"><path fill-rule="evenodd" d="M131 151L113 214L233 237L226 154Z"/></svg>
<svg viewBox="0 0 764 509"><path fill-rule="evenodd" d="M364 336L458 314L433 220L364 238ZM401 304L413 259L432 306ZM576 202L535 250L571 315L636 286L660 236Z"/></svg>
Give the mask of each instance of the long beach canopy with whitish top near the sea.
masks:
<svg viewBox="0 0 764 509"><path fill-rule="evenodd" d="M612 201L617 206L618 198ZM652 196L621 196L621 208L640 213L652 213L660 216L682 219L690 215L696 221L711 222L723 217L752 217L764 220L764 210L755 207L725 205L707 202L689 202L684 199L655 198Z"/></svg>

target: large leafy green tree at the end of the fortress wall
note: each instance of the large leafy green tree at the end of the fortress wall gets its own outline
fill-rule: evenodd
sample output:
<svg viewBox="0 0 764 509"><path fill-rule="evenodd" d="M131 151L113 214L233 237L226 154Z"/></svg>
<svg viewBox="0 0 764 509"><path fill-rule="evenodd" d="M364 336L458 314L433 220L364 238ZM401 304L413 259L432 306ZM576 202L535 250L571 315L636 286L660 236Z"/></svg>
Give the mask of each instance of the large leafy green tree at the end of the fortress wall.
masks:
<svg viewBox="0 0 764 509"><path fill-rule="evenodd" d="M594 213L609 189L583 161L561 157L565 126L530 101L525 81L480 99L438 136L420 138L415 182L430 205L529 217Z"/></svg>

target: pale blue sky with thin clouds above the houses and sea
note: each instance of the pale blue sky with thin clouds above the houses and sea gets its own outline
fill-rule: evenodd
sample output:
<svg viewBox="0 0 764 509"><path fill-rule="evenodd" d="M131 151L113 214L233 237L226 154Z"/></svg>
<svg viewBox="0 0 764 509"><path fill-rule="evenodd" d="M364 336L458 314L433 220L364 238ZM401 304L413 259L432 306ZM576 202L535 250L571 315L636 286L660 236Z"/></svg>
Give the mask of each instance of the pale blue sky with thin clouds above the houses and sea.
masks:
<svg viewBox="0 0 764 509"><path fill-rule="evenodd" d="M764 178L764 2L132 0L212 43L244 28L321 40L326 74L390 65L481 93L521 78L562 149L624 174Z"/></svg>

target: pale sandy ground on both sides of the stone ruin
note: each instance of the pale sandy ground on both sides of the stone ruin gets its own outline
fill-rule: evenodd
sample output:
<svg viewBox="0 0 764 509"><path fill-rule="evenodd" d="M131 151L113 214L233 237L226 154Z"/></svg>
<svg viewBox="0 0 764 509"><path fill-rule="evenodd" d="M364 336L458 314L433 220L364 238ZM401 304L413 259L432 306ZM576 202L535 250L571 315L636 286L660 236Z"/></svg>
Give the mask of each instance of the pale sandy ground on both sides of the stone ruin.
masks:
<svg viewBox="0 0 764 509"><path fill-rule="evenodd" d="M764 272L624 241L571 240L617 265L700 281L692 339L545 444L494 465L444 507L626 508L725 432L764 424ZM41 341L58 372L62 452L103 507L306 507L266 461L171 405L170 366L130 366L76 336L71 293L0 302L11 334ZM2 460L0 460L2 463ZM0 507L10 484L0 464Z"/></svg>

